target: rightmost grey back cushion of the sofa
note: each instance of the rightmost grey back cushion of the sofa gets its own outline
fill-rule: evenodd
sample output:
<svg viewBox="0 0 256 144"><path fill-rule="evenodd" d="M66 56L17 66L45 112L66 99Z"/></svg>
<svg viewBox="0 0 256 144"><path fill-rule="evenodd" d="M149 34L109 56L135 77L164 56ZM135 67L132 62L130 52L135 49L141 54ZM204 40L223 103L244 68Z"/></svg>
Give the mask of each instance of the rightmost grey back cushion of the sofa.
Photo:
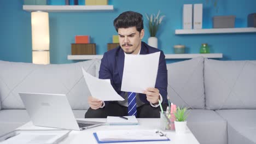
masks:
<svg viewBox="0 0 256 144"><path fill-rule="evenodd" d="M256 109L256 61L205 59L206 109Z"/></svg>

